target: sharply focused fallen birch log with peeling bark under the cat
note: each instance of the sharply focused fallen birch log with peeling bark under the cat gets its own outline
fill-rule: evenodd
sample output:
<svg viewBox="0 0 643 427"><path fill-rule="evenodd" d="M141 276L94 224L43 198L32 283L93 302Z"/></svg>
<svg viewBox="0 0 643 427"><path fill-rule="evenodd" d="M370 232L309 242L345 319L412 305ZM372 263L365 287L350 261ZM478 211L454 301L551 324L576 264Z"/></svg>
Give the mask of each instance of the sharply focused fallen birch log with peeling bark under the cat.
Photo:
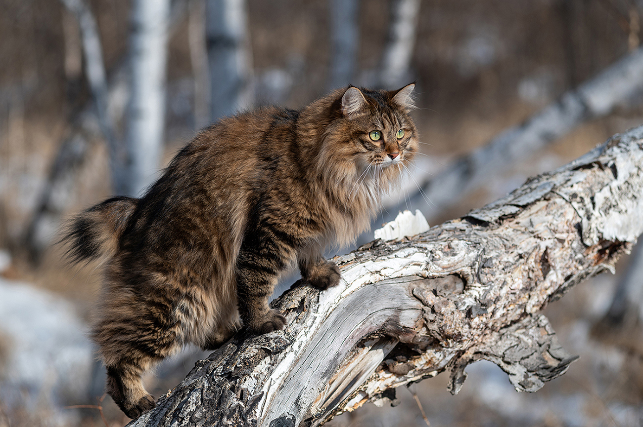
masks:
<svg viewBox="0 0 643 427"><path fill-rule="evenodd" d="M131 426L318 426L395 387L497 363L534 392L575 357L539 314L643 232L643 126L463 218L336 257L343 280L273 306L284 331L243 333Z"/></svg>

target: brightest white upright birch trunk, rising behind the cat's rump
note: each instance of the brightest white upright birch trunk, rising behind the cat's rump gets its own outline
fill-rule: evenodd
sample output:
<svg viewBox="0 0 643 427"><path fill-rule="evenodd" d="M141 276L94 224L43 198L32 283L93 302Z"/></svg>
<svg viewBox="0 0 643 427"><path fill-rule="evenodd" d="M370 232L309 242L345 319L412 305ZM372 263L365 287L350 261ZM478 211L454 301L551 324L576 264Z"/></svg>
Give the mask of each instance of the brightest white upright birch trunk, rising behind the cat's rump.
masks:
<svg viewBox="0 0 643 427"><path fill-rule="evenodd" d="M135 0L131 14L132 81L125 125L129 156L114 191L140 196L156 180L163 147L170 0Z"/></svg>

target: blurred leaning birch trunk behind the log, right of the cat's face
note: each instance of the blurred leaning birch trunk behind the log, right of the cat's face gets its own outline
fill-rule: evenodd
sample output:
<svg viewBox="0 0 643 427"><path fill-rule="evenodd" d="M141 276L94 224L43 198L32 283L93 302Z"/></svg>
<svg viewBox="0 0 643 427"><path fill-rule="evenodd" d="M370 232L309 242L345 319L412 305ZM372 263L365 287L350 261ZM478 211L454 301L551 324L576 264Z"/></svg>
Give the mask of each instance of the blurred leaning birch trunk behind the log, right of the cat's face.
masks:
<svg viewBox="0 0 643 427"><path fill-rule="evenodd" d="M477 150L426 177L421 192L402 207L420 209L431 222L442 209L518 161L542 150L577 126L610 114L643 91L643 48L620 59L594 78L568 91L518 126L497 135ZM425 197L430 200L426 203ZM397 213L397 210L392 209Z"/></svg>

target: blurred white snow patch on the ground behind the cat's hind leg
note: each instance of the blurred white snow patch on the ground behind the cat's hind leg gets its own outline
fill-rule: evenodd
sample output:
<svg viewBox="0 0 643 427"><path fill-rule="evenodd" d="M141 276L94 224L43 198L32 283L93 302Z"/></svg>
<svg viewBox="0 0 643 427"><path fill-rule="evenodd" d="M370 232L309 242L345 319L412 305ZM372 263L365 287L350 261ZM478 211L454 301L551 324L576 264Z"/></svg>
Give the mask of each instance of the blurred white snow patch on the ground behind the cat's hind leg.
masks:
<svg viewBox="0 0 643 427"><path fill-rule="evenodd" d="M86 403L92 346L73 305L29 284L0 279L0 400L8 408L48 408L51 426L70 425L75 412L62 406Z"/></svg>

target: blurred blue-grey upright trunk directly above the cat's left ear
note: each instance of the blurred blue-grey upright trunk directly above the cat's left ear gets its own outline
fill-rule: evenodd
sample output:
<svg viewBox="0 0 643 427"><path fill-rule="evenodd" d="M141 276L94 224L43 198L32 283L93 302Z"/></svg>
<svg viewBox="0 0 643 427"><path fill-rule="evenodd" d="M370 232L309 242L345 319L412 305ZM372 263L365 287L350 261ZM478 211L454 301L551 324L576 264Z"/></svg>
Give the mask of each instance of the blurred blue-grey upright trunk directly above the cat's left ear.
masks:
<svg viewBox="0 0 643 427"><path fill-rule="evenodd" d="M349 85L355 74L359 41L359 1L333 0L331 8L330 87Z"/></svg>

